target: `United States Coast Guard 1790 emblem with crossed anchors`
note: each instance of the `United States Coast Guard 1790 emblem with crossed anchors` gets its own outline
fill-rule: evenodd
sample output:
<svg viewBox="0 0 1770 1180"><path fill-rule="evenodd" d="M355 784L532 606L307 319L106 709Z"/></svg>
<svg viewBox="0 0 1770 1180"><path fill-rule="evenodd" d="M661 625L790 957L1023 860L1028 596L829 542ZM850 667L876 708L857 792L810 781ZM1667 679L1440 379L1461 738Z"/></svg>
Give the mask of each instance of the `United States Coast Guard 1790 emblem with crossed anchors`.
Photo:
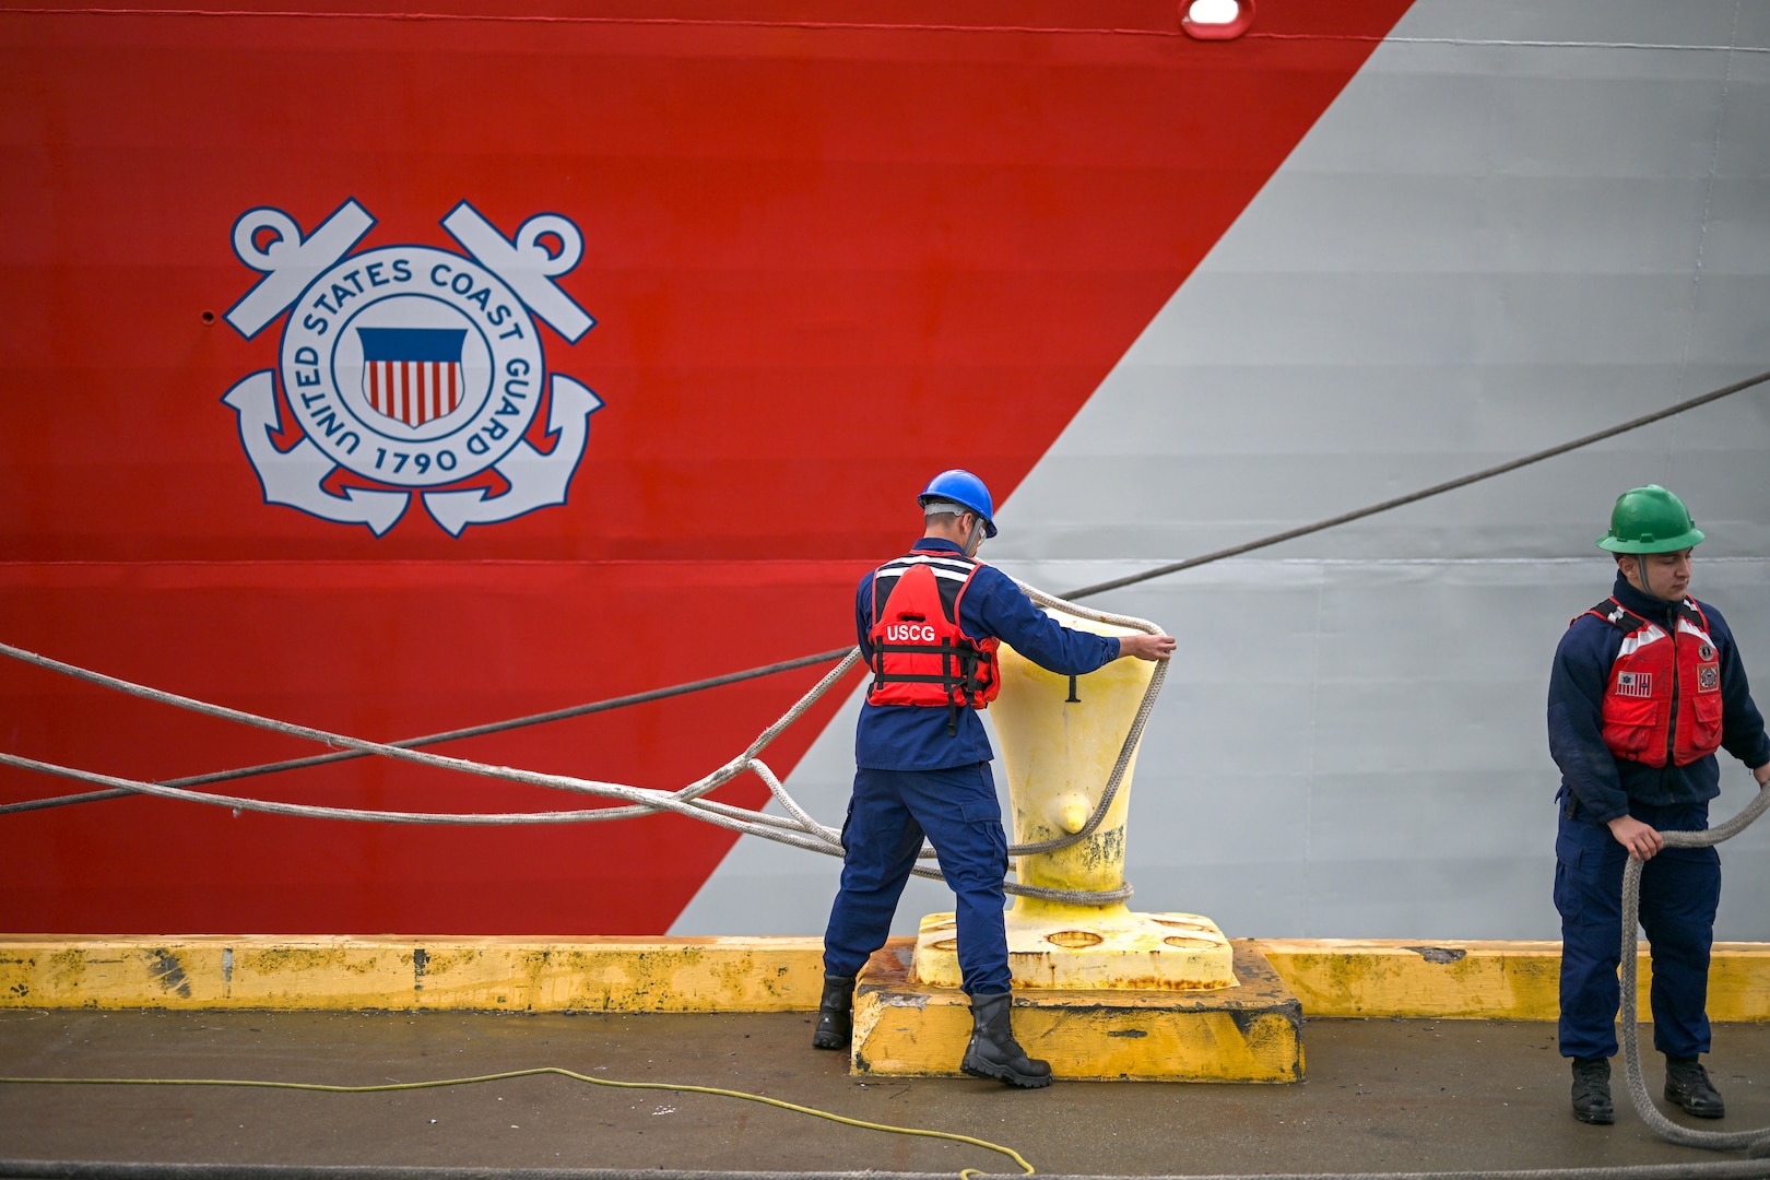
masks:
<svg viewBox="0 0 1770 1180"><path fill-rule="evenodd" d="M602 400L549 373L536 320L566 343L595 327L554 281L582 258L579 228L540 214L506 239L462 202L442 228L466 253L352 253L373 225L354 200L306 237L278 209L234 225L234 253L264 278L228 324L250 340L289 315L276 372L223 398L266 502L375 536L414 495L451 536L565 504Z"/></svg>

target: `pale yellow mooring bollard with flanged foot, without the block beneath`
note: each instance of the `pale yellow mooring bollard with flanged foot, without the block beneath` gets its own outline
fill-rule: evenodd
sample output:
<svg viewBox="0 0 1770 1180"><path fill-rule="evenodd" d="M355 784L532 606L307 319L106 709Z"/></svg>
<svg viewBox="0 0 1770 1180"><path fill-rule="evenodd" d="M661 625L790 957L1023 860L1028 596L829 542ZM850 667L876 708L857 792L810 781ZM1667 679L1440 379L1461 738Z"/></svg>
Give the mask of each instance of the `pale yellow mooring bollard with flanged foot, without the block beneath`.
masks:
<svg viewBox="0 0 1770 1180"><path fill-rule="evenodd" d="M1046 610L1064 626L1131 635L1120 626ZM1120 658L1078 676L1058 676L1002 646L1002 695L989 706L1002 741L1012 808L1012 842L1074 835L1097 810L1154 663ZM1069 847L1016 858L1021 885L1110 893L1124 886L1126 816L1133 752L1099 826ZM1016 897L1007 913L1009 968L1016 987L1216 989L1235 987L1232 950L1209 918L1133 913L1122 900L1078 904ZM959 985L950 913L922 918L913 978Z"/></svg>

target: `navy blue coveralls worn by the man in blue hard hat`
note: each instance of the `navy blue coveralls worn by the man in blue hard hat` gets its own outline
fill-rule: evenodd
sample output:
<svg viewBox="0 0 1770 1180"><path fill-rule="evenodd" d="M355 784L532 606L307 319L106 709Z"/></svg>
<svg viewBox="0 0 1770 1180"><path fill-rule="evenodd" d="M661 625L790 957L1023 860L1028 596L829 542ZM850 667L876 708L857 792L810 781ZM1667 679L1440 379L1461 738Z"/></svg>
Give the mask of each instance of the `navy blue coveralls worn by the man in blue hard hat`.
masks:
<svg viewBox="0 0 1770 1180"><path fill-rule="evenodd" d="M961 554L942 538L919 554ZM959 626L974 639L1002 639L1060 676L1081 676L1119 658L1119 640L1073 632L1032 605L1014 580L981 566L959 601ZM860 653L873 656L873 575L855 594ZM989 736L975 709L862 704L855 725L855 793L843 823L843 886L823 934L823 973L851 977L885 945L926 833L958 899L959 973L965 994L1009 991L1002 877L1007 837L989 775Z"/></svg>

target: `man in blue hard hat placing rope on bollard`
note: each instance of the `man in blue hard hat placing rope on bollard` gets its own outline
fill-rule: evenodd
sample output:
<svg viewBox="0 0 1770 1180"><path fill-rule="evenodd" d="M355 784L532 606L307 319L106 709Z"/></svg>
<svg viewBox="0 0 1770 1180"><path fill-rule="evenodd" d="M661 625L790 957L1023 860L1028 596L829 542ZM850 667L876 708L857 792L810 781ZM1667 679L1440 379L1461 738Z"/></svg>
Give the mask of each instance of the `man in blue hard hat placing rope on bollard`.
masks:
<svg viewBox="0 0 1770 1180"><path fill-rule="evenodd" d="M958 899L961 985L974 1024L959 1069L1046 1086L1051 1067L1027 1056L1009 1021L1007 839L977 709L997 695L995 653L1004 640L1053 672L1080 676L1120 656L1166 660L1174 639L1069 630L1012 579L977 561L977 547L997 527L989 490L972 472L940 472L917 502L922 540L860 579L855 596L855 633L873 681L855 729L843 886L823 936L812 1044L848 1047L855 975L885 945L926 835Z"/></svg>

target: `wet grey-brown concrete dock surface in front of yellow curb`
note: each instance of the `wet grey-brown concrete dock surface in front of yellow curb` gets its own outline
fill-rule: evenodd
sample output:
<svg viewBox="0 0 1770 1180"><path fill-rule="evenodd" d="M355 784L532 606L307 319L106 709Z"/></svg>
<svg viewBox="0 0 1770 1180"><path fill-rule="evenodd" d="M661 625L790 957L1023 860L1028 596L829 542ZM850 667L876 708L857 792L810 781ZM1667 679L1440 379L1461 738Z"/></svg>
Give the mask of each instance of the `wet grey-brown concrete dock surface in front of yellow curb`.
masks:
<svg viewBox="0 0 1770 1180"><path fill-rule="evenodd" d="M1643 1030L1643 1042L1651 1037ZM1046 1175L1345 1173L1717 1157L1627 1107L1586 1127L1540 1021L1312 1019L1289 1086L876 1081L809 1047L811 1015L0 1010L11 1077L227 1077L377 1084L556 1065L719 1086L850 1118L949 1130ZM1740 1130L1770 1125L1770 1026L1720 1024L1710 1070ZM1658 1093L1660 1060L1648 1061ZM1683 1116L1678 1116L1685 1122ZM1692 1122L1692 1125L1699 1125ZM710 1171L1018 1171L1004 1155L738 1099L522 1077L400 1093L0 1084L0 1159Z"/></svg>

